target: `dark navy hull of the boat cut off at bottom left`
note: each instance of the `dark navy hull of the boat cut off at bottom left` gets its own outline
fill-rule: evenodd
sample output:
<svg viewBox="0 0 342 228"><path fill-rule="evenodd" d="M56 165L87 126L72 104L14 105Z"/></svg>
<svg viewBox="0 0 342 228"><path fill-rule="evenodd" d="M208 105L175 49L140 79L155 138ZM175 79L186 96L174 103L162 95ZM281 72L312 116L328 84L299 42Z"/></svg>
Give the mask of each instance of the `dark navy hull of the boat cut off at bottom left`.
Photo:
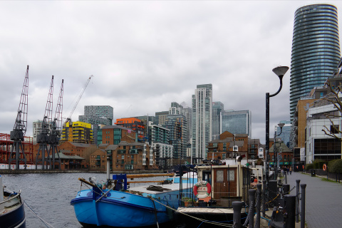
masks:
<svg viewBox="0 0 342 228"><path fill-rule="evenodd" d="M1 228L25 228L25 210L24 203L21 202L20 207L17 207L11 212L0 215Z"/></svg>

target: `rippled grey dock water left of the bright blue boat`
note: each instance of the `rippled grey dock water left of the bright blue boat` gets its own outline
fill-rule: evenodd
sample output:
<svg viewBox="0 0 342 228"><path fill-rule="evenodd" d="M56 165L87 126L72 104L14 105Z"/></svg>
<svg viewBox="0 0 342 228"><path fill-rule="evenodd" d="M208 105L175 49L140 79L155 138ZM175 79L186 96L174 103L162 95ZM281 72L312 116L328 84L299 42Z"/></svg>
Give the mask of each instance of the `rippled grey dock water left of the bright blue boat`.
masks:
<svg viewBox="0 0 342 228"><path fill-rule="evenodd" d="M88 180L96 177L99 182L105 182L105 173L44 173L44 174L20 174L1 175L3 184L8 190L19 192L28 206L39 217L58 227L81 228L76 219L71 199L80 191L81 182L78 177ZM165 177L155 177L162 180ZM138 179L137 179L138 180ZM83 184L82 190L88 189ZM25 207L27 228L46 228L46 224Z"/></svg>

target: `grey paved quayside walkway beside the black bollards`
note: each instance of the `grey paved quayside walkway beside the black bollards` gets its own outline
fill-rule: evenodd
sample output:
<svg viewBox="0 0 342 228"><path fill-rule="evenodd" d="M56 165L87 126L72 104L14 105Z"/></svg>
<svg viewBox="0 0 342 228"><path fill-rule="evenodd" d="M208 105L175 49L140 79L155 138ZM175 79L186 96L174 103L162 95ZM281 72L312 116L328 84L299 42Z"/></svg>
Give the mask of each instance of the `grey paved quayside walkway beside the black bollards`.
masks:
<svg viewBox="0 0 342 228"><path fill-rule="evenodd" d="M342 184L292 172L287 176L290 189L296 186L296 180L306 184L305 220L308 228L342 227ZM296 195L296 188L291 195Z"/></svg>

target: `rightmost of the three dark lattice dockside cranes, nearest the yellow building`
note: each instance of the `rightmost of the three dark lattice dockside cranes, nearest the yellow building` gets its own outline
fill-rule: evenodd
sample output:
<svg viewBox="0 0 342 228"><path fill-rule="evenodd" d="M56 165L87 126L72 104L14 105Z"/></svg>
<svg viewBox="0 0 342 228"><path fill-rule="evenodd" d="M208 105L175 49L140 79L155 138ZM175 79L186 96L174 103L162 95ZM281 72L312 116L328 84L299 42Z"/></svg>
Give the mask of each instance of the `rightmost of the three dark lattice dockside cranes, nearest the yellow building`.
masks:
<svg viewBox="0 0 342 228"><path fill-rule="evenodd" d="M51 124L51 133L48 137L48 143L50 144L50 149L48 150L48 153L51 154L51 170L55 169L55 162L59 163L59 170L61 170L61 157L59 157L57 145L58 145L59 139L61 138L61 129L62 129L63 83L64 83L64 80L62 79L62 85L61 85L61 90L59 90L55 118L53 118L53 121ZM55 159L56 154L58 156L58 159Z"/></svg>

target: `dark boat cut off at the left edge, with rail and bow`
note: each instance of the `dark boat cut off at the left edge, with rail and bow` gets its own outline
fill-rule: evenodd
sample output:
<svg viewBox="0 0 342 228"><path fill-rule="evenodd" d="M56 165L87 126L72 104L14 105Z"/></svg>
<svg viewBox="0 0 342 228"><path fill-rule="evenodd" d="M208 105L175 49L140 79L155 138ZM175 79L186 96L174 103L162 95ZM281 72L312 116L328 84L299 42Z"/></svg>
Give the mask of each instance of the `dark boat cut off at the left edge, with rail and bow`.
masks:
<svg viewBox="0 0 342 228"><path fill-rule="evenodd" d="M21 192L11 192L3 188L0 175L0 227L25 228L24 201Z"/></svg>

